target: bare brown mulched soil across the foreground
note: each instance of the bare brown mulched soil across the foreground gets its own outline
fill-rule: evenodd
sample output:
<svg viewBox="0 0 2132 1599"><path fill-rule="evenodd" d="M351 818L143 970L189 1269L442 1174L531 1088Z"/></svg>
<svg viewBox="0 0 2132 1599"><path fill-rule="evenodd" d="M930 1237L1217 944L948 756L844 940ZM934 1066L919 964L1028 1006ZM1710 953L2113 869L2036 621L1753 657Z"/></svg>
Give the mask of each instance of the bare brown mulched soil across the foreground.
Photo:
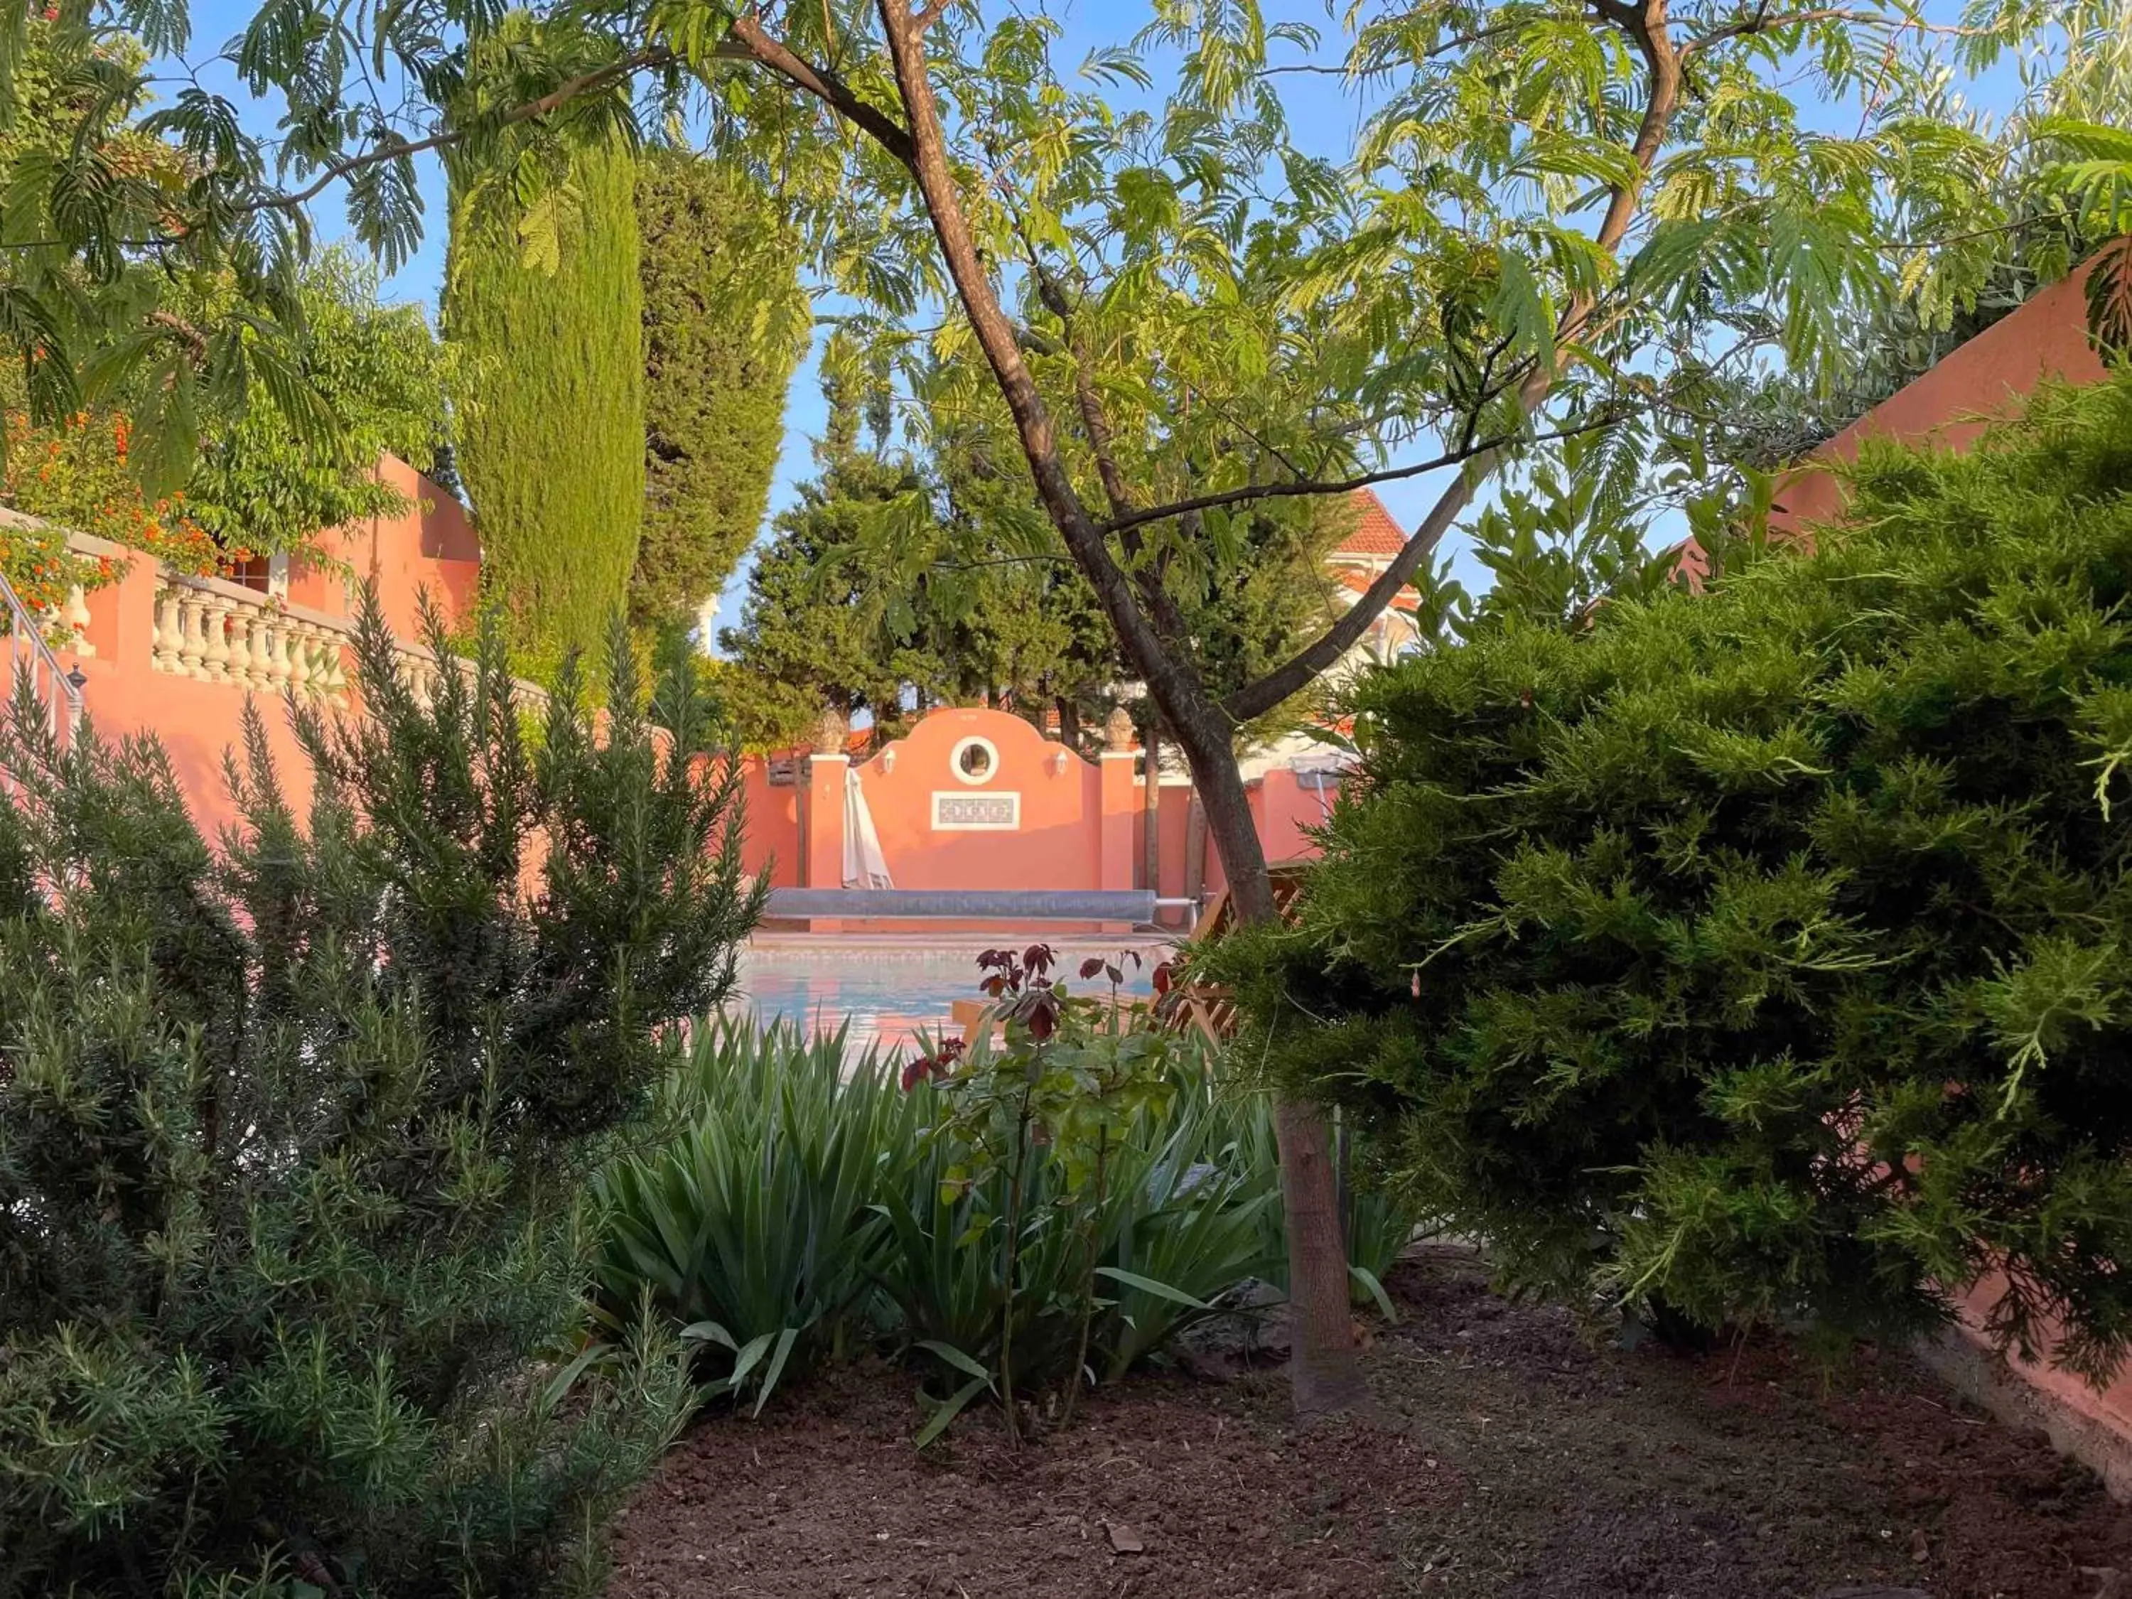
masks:
<svg viewBox="0 0 2132 1599"><path fill-rule="evenodd" d="M1908 1358L1595 1350L1454 1249L1390 1288L1371 1424L1298 1433L1279 1371L1156 1375L919 1456L887 1367L706 1420L625 1512L610 1599L2132 1599L2132 1507Z"/></svg>

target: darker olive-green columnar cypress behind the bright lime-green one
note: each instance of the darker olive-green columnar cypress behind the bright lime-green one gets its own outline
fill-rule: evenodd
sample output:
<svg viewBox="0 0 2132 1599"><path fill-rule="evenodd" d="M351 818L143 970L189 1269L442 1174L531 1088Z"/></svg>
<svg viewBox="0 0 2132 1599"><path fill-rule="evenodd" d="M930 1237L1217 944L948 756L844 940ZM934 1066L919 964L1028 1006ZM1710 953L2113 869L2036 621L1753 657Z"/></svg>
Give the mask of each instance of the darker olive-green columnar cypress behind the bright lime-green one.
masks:
<svg viewBox="0 0 2132 1599"><path fill-rule="evenodd" d="M793 243L746 173L646 151L644 539L629 578L640 633L687 629L755 539L806 348Z"/></svg>

